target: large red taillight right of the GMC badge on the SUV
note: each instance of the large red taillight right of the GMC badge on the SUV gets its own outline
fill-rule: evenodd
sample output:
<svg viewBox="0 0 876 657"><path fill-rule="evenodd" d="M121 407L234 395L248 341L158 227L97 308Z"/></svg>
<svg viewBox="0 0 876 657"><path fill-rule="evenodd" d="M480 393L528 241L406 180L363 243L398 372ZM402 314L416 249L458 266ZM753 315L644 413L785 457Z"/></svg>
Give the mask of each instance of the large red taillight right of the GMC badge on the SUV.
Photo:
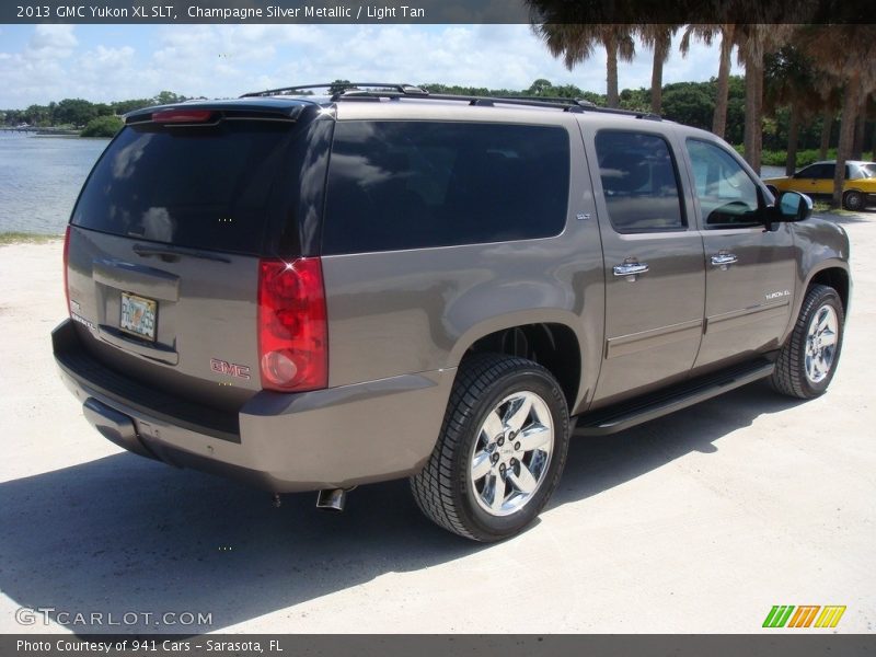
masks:
<svg viewBox="0 0 876 657"><path fill-rule="evenodd" d="M262 388L280 392L328 384L328 327L319 257L258 262Z"/></svg>

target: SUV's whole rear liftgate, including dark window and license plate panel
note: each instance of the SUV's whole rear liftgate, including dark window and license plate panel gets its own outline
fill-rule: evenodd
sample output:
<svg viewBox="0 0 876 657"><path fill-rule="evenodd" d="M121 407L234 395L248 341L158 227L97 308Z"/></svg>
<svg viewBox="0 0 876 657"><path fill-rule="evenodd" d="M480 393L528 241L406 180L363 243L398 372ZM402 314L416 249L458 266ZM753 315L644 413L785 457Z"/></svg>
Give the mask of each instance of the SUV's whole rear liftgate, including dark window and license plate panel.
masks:
<svg viewBox="0 0 876 657"><path fill-rule="evenodd" d="M70 313L92 357L220 411L262 389L260 257L302 255L299 217L320 207L307 178L324 172L313 131L331 122L306 115L220 105L128 122L70 221Z"/></svg>

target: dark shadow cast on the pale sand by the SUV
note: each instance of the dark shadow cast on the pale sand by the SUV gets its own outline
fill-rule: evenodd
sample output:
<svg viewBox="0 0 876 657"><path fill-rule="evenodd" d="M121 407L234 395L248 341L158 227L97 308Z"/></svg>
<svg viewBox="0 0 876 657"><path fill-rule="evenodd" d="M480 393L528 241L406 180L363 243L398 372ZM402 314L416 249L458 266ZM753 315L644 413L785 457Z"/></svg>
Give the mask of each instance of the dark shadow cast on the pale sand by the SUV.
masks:
<svg viewBox="0 0 876 657"><path fill-rule="evenodd" d="M551 506L714 452L727 434L794 403L754 384L624 434L575 439ZM1 483L0 499L0 590L21 607L69 612L59 622L79 634L222 630L488 549L423 518L405 481L364 486L343 515L327 515L310 494L275 509L266 493L120 453ZM92 612L124 625L74 616ZM129 623L126 612L140 615ZM164 612L211 622L162 624ZM42 619L19 631L44 631Z"/></svg>

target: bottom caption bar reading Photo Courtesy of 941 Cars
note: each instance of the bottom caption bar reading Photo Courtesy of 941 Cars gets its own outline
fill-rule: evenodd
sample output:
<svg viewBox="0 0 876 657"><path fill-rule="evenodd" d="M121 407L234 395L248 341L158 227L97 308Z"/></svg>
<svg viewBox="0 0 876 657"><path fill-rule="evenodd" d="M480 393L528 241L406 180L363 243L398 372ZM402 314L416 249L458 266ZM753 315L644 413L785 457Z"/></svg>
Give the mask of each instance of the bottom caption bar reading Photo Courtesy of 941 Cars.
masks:
<svg viewBox="0 0 876 657"><path fill-rule="evenodd" d="M825 635L788 630L757 635L289 635L208 634L149 635L2 635L0 655L69 657L106 655L234 655L255 657L431 657L502 655L502 657L578 657L634 655L678 657L816 657L876 654L876 636Z"/></svg>

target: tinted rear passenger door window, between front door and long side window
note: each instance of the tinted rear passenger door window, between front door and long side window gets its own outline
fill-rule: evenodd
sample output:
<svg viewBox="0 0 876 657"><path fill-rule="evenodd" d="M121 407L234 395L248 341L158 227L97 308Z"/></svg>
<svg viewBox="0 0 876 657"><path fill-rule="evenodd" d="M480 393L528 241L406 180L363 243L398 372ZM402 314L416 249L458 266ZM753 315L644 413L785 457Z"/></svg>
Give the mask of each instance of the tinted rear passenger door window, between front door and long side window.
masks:
<svg viewBox="0 0 876 657"><path fill-rule="evenodd" d="M596 137L596 150L606 206L615 230L684 228L676 165L661 137L603 130Z"/></svg>

